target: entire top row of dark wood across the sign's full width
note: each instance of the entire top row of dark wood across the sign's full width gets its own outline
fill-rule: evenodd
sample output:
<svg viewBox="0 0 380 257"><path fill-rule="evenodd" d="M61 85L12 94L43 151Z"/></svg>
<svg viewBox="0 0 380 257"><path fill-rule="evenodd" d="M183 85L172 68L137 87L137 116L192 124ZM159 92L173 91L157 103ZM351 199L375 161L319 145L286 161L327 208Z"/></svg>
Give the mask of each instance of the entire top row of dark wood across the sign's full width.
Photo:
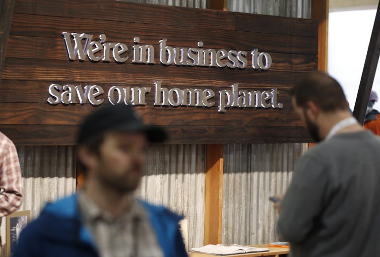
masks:
<svg viewBox="0 0 380 257"><path fill-rule="evenodd" d="M43 6L44 8L40 8ZM75 6L75 8L73 8ZM128 9L128 15L125 10ZM142 12L144 10L144 12ZM318 36L318 22L310 19L294 19L214 10L189 9L161 5L144 5L122 1L91 0L65 1L18 0L15 13L70 17L91 20L120 21L177 25L197 29L237 30L282 35ZM257 26L259 24L260 26Z"/></svg>

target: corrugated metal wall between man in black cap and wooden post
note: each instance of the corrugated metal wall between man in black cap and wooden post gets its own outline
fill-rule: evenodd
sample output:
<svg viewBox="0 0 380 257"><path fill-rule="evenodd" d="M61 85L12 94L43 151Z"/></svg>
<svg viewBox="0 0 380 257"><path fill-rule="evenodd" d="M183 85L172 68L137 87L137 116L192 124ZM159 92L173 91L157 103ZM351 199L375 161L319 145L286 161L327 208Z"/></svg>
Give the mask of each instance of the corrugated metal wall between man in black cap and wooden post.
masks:
<svg viewBox="0 0 380 257"><path fill-rule="evenodd" d="M204 145L153 145L137 195L185 216L188 246L203 245L205 221Z"/></svg>

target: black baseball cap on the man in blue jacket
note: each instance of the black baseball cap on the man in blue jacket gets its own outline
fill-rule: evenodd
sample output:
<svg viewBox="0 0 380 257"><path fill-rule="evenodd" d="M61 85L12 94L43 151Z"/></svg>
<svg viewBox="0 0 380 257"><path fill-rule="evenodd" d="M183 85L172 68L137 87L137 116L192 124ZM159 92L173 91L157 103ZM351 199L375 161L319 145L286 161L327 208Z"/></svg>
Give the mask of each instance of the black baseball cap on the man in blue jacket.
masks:
<svg viewBox="0 0 380 257"><path fill-rule="evenodd" d="M145 125L131 105L115 104L98 107L85 117L79 127L77 144L83 144L95 135L111 131L142 132L151 143L166 140L165 131L158 126Z"/></svg>

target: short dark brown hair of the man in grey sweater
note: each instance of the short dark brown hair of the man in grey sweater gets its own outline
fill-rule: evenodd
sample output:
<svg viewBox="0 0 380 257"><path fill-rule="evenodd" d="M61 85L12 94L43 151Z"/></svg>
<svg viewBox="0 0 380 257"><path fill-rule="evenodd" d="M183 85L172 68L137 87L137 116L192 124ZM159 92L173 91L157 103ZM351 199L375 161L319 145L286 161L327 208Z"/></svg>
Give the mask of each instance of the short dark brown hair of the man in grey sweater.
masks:
<svg viewBox="0 0 380 257"><path fill-rule="evenodd" d="M290 95L300 107L312 101L322 111L347 110L348 104L339 83L324 72L312 72L303 76L291 89Z"/></svg>

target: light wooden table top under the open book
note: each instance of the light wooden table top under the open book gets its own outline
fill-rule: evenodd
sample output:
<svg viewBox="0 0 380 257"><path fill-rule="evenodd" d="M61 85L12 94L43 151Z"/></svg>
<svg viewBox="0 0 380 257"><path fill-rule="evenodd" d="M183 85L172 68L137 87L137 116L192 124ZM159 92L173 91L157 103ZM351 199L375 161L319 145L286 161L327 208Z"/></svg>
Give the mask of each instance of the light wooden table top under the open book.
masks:
<svg viewBox="0 0 380 257"><path fill-rule="evenodd" d="M269 251L262 251L262 252L251 252L251 253L240 253L240 254L231 254L231 255L222 255L223 257L259 257L259 256L272 256L272 257L281 257L281 256L287 256L290 249L289 248L283 248L283 247L270 247L268 244L254 244L254 245L248 245L252 247L262 247L262 248L268 248ZM213 254L207 254L207 253L200 253L200 252L190 252L190 257L212 257L212 256L219 256L219 255L213 255Z"/></svg>

